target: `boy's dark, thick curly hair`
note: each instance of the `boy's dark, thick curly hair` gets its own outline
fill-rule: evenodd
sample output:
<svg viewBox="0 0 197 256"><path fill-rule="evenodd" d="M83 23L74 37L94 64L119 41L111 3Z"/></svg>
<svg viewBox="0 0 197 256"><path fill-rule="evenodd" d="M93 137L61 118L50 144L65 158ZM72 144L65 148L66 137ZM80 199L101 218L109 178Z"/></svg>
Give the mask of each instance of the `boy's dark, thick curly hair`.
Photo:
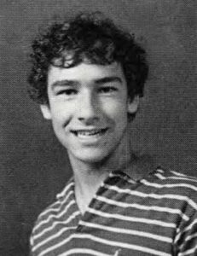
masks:
<svg viewBox="0 0 197 256"><path fill-rule="evenodd" d="M33 41L30 57L32 70L28 91L40 104L49 103L47 77L50 65L69 68L82 61L100 65L117 61L123 67L131 99L143 95L148 77L144 49L136 44L133 35L119 29L100 12L54 22Z"/></svg>

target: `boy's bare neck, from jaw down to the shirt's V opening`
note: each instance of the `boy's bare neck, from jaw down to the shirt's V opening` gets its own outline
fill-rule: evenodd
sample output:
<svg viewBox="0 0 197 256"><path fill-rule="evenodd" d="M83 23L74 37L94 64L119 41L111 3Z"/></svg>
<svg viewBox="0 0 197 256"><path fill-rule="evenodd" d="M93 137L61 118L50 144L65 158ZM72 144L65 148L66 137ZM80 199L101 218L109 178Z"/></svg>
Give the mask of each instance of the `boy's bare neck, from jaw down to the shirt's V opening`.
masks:
<svg viewBox="0 0 197 256"><path fill-rule="evenodd" d="M107 159L99 163L87 163L72 159L72 171L75 180L75 196L79 210L84 213L92 197L96 194L101 183L109 172L125 169L130 165L132 158L128 136L119 144L119 147Z"/></svg>

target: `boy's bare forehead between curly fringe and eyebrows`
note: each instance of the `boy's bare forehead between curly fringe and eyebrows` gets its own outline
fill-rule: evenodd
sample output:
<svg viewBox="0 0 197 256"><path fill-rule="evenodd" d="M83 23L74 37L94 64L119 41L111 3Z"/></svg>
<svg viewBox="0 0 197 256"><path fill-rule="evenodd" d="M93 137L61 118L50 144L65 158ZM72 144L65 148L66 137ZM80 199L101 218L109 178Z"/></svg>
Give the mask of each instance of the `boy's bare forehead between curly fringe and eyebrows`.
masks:
<svg viewBox="0 0 197 256"><path fill-rule="evenodd" d="M75 80L78 82L92 82L106 77L119 77L125 80L122 67L119 63L113 62L110 65L96 65L81 63L76 67L49 67L48 84L54 84L56 81L64 79Z"/></svg>

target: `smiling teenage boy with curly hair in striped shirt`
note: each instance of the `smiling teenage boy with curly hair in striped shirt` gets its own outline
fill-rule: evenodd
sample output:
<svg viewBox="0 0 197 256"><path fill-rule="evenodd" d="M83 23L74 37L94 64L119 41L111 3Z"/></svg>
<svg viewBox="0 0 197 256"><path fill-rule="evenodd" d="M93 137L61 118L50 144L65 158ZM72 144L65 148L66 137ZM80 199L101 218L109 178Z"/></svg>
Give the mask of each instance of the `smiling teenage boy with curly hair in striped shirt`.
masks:
<svg viewBox="0 0 197 256"><path fill-rule="evenodd" d="M197 255L197 180L131 153L145 51L99 14L55 22L32 49L30 94L73 172L38 217L32 255Z"/></svg>

